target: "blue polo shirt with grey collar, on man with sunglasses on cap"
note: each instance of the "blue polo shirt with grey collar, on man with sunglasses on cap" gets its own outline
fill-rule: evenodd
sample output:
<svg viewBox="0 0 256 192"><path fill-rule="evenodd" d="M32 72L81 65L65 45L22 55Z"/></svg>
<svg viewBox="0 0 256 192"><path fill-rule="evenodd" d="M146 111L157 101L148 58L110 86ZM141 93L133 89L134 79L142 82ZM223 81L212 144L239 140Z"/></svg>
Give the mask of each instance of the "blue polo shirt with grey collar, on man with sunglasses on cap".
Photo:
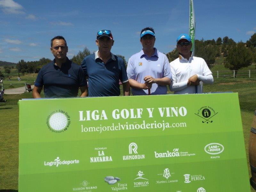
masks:
<svg viewBox="0 0 256 192"><path fill-rule="evenodd" d="M98 52L85 57L81 64L84 75L88 76L89 97L119 96L119 79L122 83L128 81L124 60L111 53L104 64Z"/></svg>

